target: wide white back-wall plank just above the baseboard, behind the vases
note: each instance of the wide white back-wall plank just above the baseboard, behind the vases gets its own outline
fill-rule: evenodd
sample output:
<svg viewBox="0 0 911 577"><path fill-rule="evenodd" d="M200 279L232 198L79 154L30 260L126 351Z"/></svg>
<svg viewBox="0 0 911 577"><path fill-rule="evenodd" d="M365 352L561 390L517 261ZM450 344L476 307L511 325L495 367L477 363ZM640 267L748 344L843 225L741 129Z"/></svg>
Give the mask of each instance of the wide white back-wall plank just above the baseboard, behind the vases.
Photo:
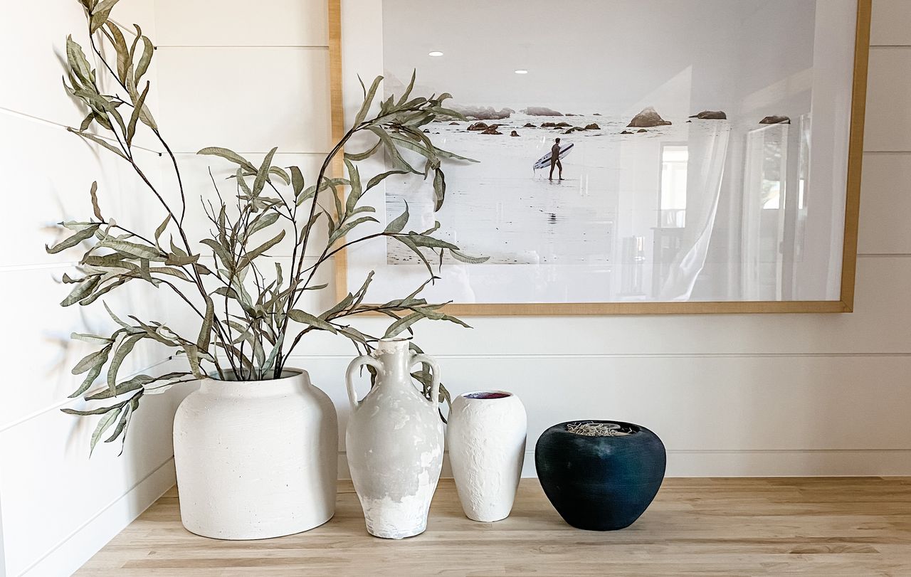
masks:
<svg viewBox="0 0 911 577"><path fill-rule="evenodd" d="M526 406L528 448L565 420L619 419L668 450L901 450L911 357L439 359L453 395L510 390ZM348 419L347 359L295 357ZM358 384L363 395L367 380ZM340 440L343 443L342 440ZM911 472L911 471L908 471Z"/></svg>

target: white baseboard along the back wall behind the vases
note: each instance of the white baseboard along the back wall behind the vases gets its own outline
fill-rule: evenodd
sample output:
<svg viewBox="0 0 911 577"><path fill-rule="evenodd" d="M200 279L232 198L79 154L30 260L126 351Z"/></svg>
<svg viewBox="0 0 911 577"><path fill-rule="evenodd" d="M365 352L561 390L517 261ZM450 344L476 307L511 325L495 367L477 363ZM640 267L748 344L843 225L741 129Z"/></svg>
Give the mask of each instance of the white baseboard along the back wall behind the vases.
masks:
<svg viewBox="0 0 911 577"><path fill-rule="evenodd" d="M668 450L668 477L891 477L911 475L911 449ZM442 477L452 477L449 455ZM522 477L537 477L535 451ZM339 452L339 479L351 479Z"/></svg>

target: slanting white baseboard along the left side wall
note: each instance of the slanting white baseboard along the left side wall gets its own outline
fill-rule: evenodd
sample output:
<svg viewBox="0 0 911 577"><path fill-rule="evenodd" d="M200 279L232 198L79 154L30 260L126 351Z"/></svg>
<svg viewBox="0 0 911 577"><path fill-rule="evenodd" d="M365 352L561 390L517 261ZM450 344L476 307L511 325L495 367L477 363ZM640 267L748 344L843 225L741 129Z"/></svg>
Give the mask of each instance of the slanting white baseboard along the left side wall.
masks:
<svg viewBox="0 0 911 577"><path fill-rule="evenodd" d="M59 577L76 572L92 555L123 531L142 511L174 486L174 459L163 462L127 493L54 545L21 573L22 577Z"/></svg>

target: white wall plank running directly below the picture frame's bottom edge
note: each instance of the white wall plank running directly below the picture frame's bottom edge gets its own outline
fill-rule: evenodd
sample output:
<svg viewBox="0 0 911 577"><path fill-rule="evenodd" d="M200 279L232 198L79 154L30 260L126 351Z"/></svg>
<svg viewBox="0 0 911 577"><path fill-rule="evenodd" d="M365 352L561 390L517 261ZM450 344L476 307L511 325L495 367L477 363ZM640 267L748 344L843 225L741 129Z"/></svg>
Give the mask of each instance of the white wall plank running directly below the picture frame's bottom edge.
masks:
<svg viewBox="0 0 911 577"><path fill-rule="evenodd" d="M431 354L468 356L906 354L911 352L909 286L911 258L861 258L853 313L477 317L466 318L474 329L421 321L415 334ZM327 295L319 303L323 309L333 304ZM388 321L361 319L355 325L375 334L383 333ZM351 350L346 340L322 334L308 335L302 349Z"/></svg>

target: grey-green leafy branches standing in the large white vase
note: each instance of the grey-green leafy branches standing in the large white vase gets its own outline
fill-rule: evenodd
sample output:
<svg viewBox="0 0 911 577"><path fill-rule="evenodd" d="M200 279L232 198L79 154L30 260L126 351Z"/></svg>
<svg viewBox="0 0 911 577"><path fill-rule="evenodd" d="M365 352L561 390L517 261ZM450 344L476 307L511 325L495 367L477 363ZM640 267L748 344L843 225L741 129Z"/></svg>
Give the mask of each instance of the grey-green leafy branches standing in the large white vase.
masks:
<svg viewBox="0 0 911 577"><path fill-rule="evenodd" d="M358 315L383 314L392 319L383 338L412 332L412 326L421 319L468 326L441 310L447 303L429 303L420 294L439 278L445 253L466 263L480 263L486 258L466 255L454 244L436 238L438 222L424 231L405 230L409 220L407 204L402 215L391 220L381 232L355 234L364 224L379 222L371 216L376 209L363 202L363 197L387 177L415 175L432 179L435 210L439 210L445 199L443 163L475 162L435 147L422 129L437 117L462 118L444 106L445 100L451 97L449 94L412 96L413 74L404 93L380 102L379 111L371 116L383 77L376 77L369 88L362 82L363 106L352 127L323 159L319 175L310 186L304 181L300 167L273 164L277 148L272 148L259 166L227 148L203 148L200 155L220 157L236 167L230 177L234 190L226 199L212 177L218 200L203 205L210 229L191 230L184 222L187 192L177 158L146 105L150 81L145 76L154 56L154 45L138 25L133 25L135 32L128 31L109 19L118 0L79 1L87 17L89 47L99 65L93 68L83 47L71 36L67 37L64 86L87 110L79 127L67 130L128 163L157 199L163 220L154 230L124 228L102 211L97 182L92 183L89 196L94 218L60 223L72 234L46 247L51 254L77 246L88 247L79 261L79 274L63 277L73 288L60 304L90 305L127 283L145 282L177 295L200 326L196 335L182 336L157 320L143 320L136 315L121 319L105 304L118 329L107 336L72 335L73 339L97 345L97 349L72 369L74 375L85 376L70 398L114 400L113 404L97 409L64 410L75 415L101 415L91 437L91 449L94 450L108 430L105 442L126 440L129 420L146 394L210 375L222 380L281 377L292 351L312 331L341 335L351 340L358 354L369 354L379 337L351 326L351 319ZM127 35L133 35L129 45ZM113 63L101 49L106 43L116 54ZM114 94L99 88L101 76L112 81ZM142 126L169 157L173 186L179 197L177 206L166 200L168 195L159 188L161 185L153 184L148 178L134 154L134 140ZM345 144L362 133L371 135L374 144L362 152L343 153ZM333 159L342 153L346 177L330 177ZM392 169L363 182L357 163L377 154L384 154ZM422 159L423 165L416 163L415 157ZM329 208L325 208L327 205ZM318 226L326 228L325 237L315 232ZM415 254L427 271L424 283L404 299L364 304L374 278L371 271L359 289L348 293L330 309L321 312L299 308L307 291L326 289L327 285L313 282L322 265L340 250L382 237L403 244ZM274 262L271 270L262 266L267 253L285 238L293 243L290 270L283 270L279 262ZM312 254L318 257L308 264L305 255ZM121 365L140 341L156 342L185 356L189 370L157 377L140 374L128 380L118 379ZM412 348L422 352L414 344ZM102 372L106 374L107 388L90 391ZM413 376L422 383L425 396L429 397L429 368L422 367ZM441 387L440 397L438 401L449 400L445 388Z"/></svg>

